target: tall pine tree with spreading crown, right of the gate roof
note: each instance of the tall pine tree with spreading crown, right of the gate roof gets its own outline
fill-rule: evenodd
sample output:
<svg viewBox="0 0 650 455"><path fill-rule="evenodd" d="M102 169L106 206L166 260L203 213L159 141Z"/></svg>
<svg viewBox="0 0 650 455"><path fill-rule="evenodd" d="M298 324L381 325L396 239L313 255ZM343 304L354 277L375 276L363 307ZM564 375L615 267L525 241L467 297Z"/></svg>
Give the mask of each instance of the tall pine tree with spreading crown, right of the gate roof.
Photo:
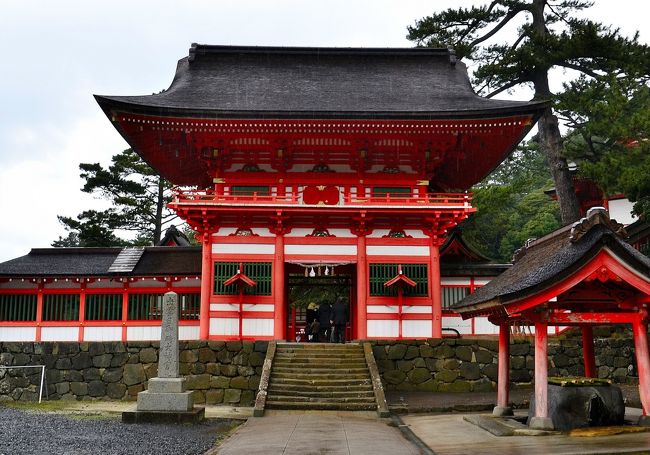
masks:
<svg viewBox="0 0 650 455"><path fill-rule="evenodd" d="M408 28L407 38L420 46L454 47L458 57L476 64L474 82L487 97L527 86L533 88L534 99L555 101L549 73L556 68L593 80L648 74L648 48L638 42L638 34L626 38L619 29L577 17L590 6L584 0L494 0L418 20ZM513 36L506 30L514 26ZM503 41L496 42L497 37ZM562 222L568 224L580 211L552 108L543 113L538 128Z"/></svg>

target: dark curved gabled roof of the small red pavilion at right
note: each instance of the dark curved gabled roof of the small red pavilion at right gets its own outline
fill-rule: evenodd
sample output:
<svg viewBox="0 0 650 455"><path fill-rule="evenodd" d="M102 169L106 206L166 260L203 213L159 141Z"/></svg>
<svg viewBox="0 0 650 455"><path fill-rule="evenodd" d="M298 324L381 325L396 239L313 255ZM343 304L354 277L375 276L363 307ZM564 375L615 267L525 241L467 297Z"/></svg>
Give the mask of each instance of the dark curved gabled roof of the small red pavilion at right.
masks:
<svg viewBox="0 0 650 455"><path fill-rule="evenodd" d="M650 259L627 244L604 224L595 224L577 241L572 226L537 240L520 254L514 265L470 294L453 309L460 313L490 312L550 288L588 263L604 248L650 279Z"/></svg>

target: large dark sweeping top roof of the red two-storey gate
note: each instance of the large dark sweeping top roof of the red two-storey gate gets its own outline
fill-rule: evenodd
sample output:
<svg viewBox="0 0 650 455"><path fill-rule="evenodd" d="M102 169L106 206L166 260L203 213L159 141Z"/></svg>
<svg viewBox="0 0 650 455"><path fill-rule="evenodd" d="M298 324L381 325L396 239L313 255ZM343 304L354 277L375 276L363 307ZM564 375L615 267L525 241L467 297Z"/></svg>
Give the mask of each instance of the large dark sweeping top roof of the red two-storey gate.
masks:
<svg viewBox="0 0 650 455"><path fill-rule="evenodd" d="M142 113L153 109L157 115L239 118L449 118L477 112L530 113L546 106L479 97L465 64L456 62L453 52L427 48L192 45L167 90L96 98L107 112L113 107Z"/></svg>

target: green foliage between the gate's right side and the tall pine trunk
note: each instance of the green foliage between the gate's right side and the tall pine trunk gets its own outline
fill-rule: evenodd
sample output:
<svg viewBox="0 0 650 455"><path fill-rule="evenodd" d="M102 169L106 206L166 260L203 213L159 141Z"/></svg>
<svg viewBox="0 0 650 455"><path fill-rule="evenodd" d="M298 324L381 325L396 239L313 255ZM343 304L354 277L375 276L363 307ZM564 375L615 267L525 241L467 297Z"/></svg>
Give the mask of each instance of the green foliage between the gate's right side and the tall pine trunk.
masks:
<svg viewBox="0 0 650 455"><path fill-rule="evenodd" d="M526 240L561 226L557 201L544 191L553 186L536 143L524 144L473 189L477 212L462 226L463 238L502 262Z"/></svg>

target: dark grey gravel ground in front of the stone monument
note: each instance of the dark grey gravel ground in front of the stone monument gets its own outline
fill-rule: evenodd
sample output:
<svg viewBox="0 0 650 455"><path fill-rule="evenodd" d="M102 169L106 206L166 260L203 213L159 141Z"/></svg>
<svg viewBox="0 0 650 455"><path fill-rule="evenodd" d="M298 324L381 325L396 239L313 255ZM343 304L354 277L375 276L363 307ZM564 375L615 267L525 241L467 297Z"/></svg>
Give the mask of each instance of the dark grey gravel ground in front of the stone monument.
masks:
<svg viewBox="0 0 650 455"><path fill-rule="evenodd" d="M119 418L0 406L0 455L203 454L232 426L214 419L200 425L127 425Z"/></svg>

